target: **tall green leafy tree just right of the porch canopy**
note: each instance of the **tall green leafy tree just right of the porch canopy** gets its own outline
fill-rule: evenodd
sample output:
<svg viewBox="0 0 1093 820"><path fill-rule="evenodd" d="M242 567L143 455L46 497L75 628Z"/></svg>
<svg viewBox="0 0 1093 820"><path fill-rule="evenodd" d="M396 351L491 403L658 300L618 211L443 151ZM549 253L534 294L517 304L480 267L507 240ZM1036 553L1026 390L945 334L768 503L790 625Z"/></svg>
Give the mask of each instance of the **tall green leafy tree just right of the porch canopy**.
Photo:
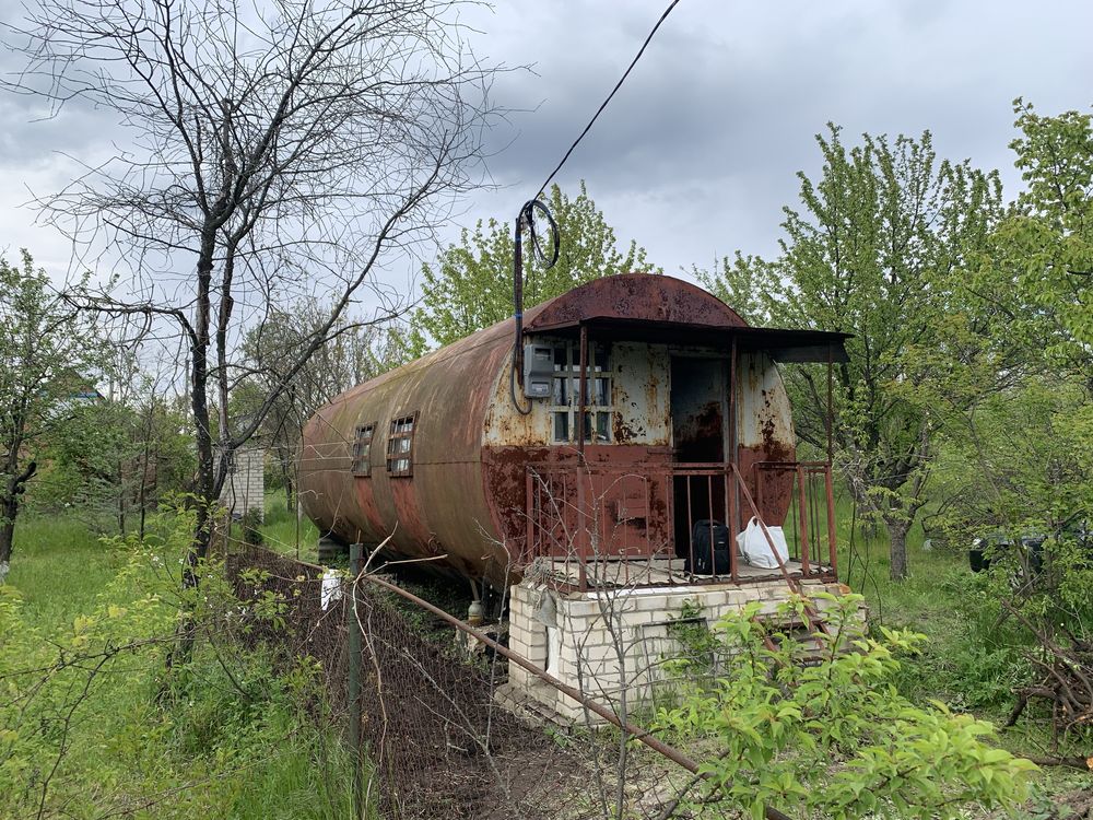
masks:
<svg viewBox="0 0 1093 820"><path fill-rule="evenodd" d="M984 375L982 328L954 308L1000 215L1001 187L967 162L939 162L928 131L866 134L847 149L831 126L816 142L823 171L816 181L798 175L803 209L785 210L778 258L738 254L701 278L753 320L854 333L835 374L837 461L858 505L885 525L901 578L927 500L936 396ZM798 435L823 447L825 385L806 368L788 375Z"/></svg>

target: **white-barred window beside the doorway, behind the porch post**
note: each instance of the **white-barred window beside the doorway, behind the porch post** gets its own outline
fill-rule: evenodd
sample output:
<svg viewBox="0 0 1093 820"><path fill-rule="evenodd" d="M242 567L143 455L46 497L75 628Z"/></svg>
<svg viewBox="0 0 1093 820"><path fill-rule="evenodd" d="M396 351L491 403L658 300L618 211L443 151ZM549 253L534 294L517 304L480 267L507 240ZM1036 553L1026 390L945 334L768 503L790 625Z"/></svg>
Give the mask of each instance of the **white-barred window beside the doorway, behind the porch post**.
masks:
<svg viewBox="0 0 1093 820"><path fill-rule="evenodd" d="M608 348L599 342L588 345L588 371L585 380L585 442L608 444L611 441L611 376ZM551 389L551 438L555 444L577 441L580 393L580 345L574 342L554 345L554 378Z"/></svg>

